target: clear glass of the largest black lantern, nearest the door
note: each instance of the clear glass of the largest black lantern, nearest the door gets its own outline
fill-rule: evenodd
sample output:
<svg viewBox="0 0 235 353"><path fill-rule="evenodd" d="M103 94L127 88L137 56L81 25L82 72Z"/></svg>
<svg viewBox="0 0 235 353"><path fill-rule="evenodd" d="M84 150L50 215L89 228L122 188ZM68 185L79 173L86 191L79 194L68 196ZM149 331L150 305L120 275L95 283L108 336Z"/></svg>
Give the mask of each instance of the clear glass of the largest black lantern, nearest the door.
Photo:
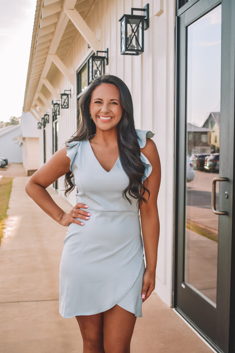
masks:
<svg viewBox="0 0 235 353"><path fill-rule="evenodd" d="M142 50L143 20L129 18L127 22L127 48L137 52Z"/></svg>

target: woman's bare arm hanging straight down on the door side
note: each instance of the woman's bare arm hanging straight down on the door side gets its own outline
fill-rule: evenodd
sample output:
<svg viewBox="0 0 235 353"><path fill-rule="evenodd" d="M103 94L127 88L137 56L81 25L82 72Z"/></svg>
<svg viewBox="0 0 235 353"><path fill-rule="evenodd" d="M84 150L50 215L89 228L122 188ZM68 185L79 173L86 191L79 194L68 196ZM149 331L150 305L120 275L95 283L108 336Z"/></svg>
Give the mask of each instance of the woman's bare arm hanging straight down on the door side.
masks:
<svg viewBox="0 0 235 353"><path fill-rule="evenodd" d="M146 257L142 295L145 295L144 300L146 300L155 288L157 247L160 232L157 195L161 181L161 165L156 145L152 140L147 139L146 146L141 149L141 152L148 158L153 167L151 174L143 182L144 186L150 191L149 199L147 204L140 204L141 228ZM144 196L147 198L148 194L145 193Z"/></svg>

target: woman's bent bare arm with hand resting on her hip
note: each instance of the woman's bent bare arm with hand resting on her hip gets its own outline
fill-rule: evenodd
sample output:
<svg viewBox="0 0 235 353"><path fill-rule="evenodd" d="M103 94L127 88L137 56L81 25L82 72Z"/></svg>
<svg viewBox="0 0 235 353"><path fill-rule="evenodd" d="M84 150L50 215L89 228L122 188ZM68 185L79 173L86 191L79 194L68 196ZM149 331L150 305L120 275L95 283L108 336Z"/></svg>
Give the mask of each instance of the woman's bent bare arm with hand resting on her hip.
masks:
<svg viewBox="0 0 235 353"><path fill-rule="evenodd" d="M83 225L83 222L76 220L75 217L84 220L89 219L88 215L90 214L84 210L80 210L80 207L87 208L86 205L81 203L76 204L68 213L65 213L54 202L46 190L49 185L62 177L62 175L68 173L69 170L70 159L66 156L66 147L64 147L58 150L48 162L43 164L43 166L32 175L27 181L25 191L45 213L61 225L68 226L72 222Z"/></svg>

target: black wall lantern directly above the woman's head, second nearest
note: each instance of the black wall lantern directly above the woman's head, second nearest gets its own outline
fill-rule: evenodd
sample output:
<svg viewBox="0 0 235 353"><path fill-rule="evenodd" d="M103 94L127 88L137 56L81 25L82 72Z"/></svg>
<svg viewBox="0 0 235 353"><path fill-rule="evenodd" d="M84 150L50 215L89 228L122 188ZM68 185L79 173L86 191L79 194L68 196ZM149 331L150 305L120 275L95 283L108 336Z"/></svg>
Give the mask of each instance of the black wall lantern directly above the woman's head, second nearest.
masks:
<svg viewBox="0 0 235 353"><path fill-rule="evenodd" d="M99 56L98 53L106 53L106 56ZM109 48L107 50L97 50L96 55L88 59L88 85L94 78L104 74L104 66L109 64Z"/></svg>

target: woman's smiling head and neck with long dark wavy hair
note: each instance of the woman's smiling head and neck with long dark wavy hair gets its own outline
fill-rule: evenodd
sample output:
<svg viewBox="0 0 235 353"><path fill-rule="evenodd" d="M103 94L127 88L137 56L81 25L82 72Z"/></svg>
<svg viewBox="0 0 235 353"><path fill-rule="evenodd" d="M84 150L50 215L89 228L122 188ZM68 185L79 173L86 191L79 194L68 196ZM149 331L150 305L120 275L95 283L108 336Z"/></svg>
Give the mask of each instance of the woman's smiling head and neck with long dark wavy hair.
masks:
<svg viewBox="0 0 235 353"><path fill-rule="evenodd" d="M99 88L100 86L100 88ZM110 87L112 87L112 92L110 94ZM96 89L101 90L102 97L99 101L100 103L94 103L95 106L101 104L101 110L98 109L95 113L107 115L107 112L103 112L103 109L109 109L111 104L116 103L117 106L117 114L114 116L113 121L111 120L111 124L104 125L99 118L95 115L95 120L91 115L90 107L93 106L93 102L95 102L96 95L93 95L93 91ZM99 91L98 91L99 93ZM116 96L113 96L115 94ZM105 101L104 103L102 101ZM113 100L113 101L112 101ZM107 101L110 103L107 105ZM119 102L117 104L117 101ZM102 102L102 103L101 103ZM99 107L100 108L100 107ZM108 163L112 164L111 162L115 160L117 155L120 156L120 162L122 167L128 175L129 184L123 191L123 196L129 200L128 194L131 193L137 200L144 201L145 198L143 197L144 193L148 193L147 187L142 185L142 194L140 193L140 184L142 182L143 174L144 174L144 165L140 160L140 146L137 141L135 126L134 126L134 113L133 113L133 104L130 91L128 87L124 84L124 82L116 76L112 75L103 75L95 79L92 84L88 86L85 90L84 94L79 100L79 126L78 131L75 137L73 137L68 142L72 142L74 140L90 140L91 145L93 144L92 136L94 136L94 140L98 143L100 141L101 146L113 146L118 143L118 152L113 151L113 155L110 156L100 156L101 163L105 163L105 167L110 169L107 166ZM122 110L121 119L120 111ZM116 111L116 110L115 110ZM110 114L110 112L109 112ZM112 113L113 114L113 113ZM110 115L112 115L110 114ZM113 114L114 115L114 114ZM98 115L99 116L99 115ZM98 120L97 120L98 119ZM116 121L116 124L115 124ZM103 127L100 128L100 124L103 124ZM106 126L106 128L105 128ZM105 131L109 131L109 139L107 140L107 133ZM124 133L125 131L125 133ZM101 148L100 146L100 148ZM96 155L95 149L94 154ZM104 148L103 150L108 150L109 148ZM116 152L116 153L115 153ZM96 155L97 156L97 155ZM135 166L133 166L135 164ZM71 182L71 178L73 178L73 174L70 173L66 174L66 184L69 185L68 191L70 192L74 189L74 186Z"/></svg>

